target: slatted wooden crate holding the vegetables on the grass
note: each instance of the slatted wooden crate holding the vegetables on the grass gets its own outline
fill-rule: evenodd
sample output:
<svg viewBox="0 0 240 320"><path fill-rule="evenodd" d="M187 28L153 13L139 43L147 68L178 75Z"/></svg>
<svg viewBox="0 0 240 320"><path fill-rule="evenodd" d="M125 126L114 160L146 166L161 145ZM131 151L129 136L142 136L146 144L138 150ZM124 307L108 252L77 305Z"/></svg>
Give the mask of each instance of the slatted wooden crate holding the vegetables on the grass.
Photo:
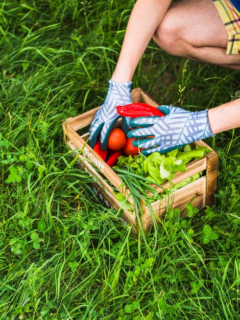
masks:
<svg viewBox="0 0 240 320"><path fill-rule="evenodd" d="M141 88L133 89L131 96L132 102L144 102L155 107L159 106L159 104L143 92ZM98 193L101 198L104 198L106 205L117 210L121 208L121 205L113 193L112 186L122 192L124 196L129 194L129 190L123 187L119 189L122 180L86 143L89 133L85 132L80 136L80 134L76 132L80 129L83 131L84 128L87 131L95 112L99 108L100 107L94 108L74 118L68 118L63 123L64 139L70 149L76 150L76 154L78 154L79 159L81 159L81 164L88 174L94 177L95 182L93 188L95 188L95 192ZM204 171L204 174L201 178L176 190L171 195L164 197L164 199L156 200L151 204L157 222L169 206L171 206L171 208L179 208L180 212L183 212L186 204L190 202L198 209L202 209L205 205L211 206L214 202L214 193L217 190L218 154L203 141L198 141L194 144L207 147L211 152L199 160L188 163L186 165L186 172L176 173L172 182L177 184L201 171ZM101 174L95 169L96 167L100 170ZM170 184L169 182L165 182L162 186L168 188ZM157 186L154 186L154 188L158 193L162 192L162 188ZM129 197L129 202L133 204L131 196ZM140 220L143 230L148 230L153 224L151 210L142 204L142 211L143 214L137 217L135 213L131 214L129 211L124 210L122 217L126 222L135 226L139 225Z"/></svg>

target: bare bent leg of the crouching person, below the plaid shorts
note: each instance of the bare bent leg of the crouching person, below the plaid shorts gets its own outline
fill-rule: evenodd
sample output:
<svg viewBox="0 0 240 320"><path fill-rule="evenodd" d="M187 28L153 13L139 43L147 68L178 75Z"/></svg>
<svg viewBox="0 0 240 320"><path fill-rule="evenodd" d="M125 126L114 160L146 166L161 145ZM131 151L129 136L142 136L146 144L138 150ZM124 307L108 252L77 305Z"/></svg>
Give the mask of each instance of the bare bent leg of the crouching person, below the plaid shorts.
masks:
<svg viewBox="0 0 240 320"><path fill-rule="evenodd" d="M240 70L240 54L226 55L228 33L211 0L172 4L153 39L172 55Z"/></svg>

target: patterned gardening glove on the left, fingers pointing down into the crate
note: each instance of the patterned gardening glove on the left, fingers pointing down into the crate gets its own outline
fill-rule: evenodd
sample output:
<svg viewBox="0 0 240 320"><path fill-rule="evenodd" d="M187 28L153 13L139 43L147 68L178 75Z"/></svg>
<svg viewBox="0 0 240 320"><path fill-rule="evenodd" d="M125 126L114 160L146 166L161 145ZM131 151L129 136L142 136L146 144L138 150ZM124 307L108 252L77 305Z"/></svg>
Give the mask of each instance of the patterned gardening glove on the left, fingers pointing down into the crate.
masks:
<svg viewBox="0 0 240 320"><path fill-rule="evenodd" d="M117 120L120 118L116 106L132 103L131 84L132 82L114 82L109 80L109 88L103 105L95 113L89 132L89 145L95 146L100 135L101 149L107 149L108 136ZM131 118L123 117L122 129L127 134Z"/></svg>

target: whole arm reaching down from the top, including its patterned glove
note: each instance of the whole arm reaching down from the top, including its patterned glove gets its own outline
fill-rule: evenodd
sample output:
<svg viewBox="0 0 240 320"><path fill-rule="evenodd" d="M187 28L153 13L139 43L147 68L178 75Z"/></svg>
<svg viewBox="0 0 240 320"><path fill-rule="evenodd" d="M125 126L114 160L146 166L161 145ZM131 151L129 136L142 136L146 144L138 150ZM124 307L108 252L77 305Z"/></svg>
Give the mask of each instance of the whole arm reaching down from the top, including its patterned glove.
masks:
<svg viewBox="0 0 240 320"><path fill-rule="evenodd" d="M133 74L171 2L172 0L137 0L134 5L122 50L109 81L107 96L99 111L95 113L89 129L89 144L92 148L100 135L101 148L106 150L109 133L119 116L115 107L131 103ZM122 128L126 132L129 130L129 121L128 117L122 121Z"/></svg>

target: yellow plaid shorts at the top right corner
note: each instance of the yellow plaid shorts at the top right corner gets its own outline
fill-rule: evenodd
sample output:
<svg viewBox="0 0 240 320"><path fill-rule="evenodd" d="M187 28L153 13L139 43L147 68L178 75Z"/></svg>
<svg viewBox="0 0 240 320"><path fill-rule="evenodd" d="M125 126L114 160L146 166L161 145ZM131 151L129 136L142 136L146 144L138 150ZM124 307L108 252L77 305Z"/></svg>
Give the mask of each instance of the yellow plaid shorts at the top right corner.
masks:
<svg viewBox="0 0 240 320"><path fill-rule="evenodd" d="M228 32L226 54L240 53L240 13L229 0L213 0Z"/></svg>

